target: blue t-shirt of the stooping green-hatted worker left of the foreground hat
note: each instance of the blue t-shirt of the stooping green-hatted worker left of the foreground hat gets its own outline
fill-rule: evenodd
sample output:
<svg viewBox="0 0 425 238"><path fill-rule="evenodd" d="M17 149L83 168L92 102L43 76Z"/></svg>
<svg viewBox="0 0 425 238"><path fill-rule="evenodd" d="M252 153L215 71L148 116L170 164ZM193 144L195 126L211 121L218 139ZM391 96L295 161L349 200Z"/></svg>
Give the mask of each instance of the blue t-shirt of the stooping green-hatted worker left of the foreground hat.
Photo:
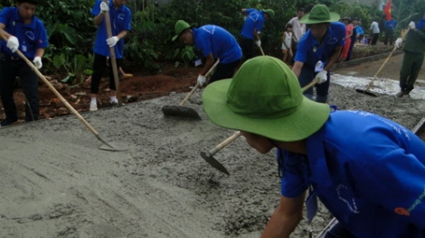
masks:
<svg viewBox="0 0 425 238"><path fill-rule="evenodd" d="M221 63L231 63L242 57L242 50L234 36L217 25L193 28L194 44L207 57L213 53Z"/></svg>

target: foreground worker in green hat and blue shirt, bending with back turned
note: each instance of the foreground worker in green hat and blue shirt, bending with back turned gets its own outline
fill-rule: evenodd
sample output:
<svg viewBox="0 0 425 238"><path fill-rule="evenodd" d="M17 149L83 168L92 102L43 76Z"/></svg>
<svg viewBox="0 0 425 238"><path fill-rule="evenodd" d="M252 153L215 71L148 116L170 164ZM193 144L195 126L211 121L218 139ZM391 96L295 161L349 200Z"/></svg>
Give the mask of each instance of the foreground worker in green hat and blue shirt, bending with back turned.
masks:
<svg viewBox="0 0 425 238"><path fill-rule="evenodd" d="M309 100L269 56L206 87L203 107L260 153L278 149L280 203L261 237L288 237L305 201L310 222L316 197L339 222L326 237L425 237L425 143L400 124Z"/></svg>

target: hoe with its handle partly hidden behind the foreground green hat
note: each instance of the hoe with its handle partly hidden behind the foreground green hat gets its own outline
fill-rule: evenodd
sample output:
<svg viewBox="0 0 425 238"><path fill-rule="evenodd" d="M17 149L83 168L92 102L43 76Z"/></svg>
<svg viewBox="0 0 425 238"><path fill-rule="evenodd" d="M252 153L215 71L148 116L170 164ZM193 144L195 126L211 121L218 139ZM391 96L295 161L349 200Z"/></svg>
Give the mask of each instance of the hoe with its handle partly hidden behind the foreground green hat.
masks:
<svg viewBox="0 0 425 238"><path fill-rule="evenodd" d="M309 84L307 84L305 87L302 88L302 92L305 92L308 88L316 85L316 83L319 81L318 78L311 81ZM226 147L228 144L236 140L238 137L241 136L241 132L238 131L236 133L233 133L230 137L228 137L223 142L219 143L217 146L215 146L212 150L207 152L201 152L201 156L203 157L203 160L205 160L207 163L209 163L213 168L218 169L222 171L223 173L230 175L229 171L222 165L221 162L214 159L214 154L216 154L218 151L222 150L222 148Z"/></svg>

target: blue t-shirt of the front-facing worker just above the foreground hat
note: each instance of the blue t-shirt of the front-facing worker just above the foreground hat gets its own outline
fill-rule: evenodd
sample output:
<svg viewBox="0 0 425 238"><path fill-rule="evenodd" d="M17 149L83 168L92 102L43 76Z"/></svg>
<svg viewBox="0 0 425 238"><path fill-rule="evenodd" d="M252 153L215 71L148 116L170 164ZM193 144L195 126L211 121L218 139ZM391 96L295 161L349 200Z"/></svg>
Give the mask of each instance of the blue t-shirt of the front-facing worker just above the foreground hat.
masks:
<svg viewBox="0 0 425 238"><path fill-rule="evenodd" d="M316 40L311 30L308 30L298 42L295 61L314 67L317 61L326 65L335 51L335 47L345 44L345 24L331 23L322 44Z"/></svg>

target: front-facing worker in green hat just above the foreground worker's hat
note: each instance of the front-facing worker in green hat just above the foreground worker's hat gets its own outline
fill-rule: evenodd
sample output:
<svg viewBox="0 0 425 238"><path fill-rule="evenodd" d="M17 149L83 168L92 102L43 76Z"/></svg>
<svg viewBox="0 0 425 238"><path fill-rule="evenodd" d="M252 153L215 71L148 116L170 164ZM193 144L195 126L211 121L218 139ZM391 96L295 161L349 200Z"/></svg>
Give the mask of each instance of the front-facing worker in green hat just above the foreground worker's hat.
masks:
<svg viewBox="0 0 425 238"><path fill-rule="evenodd" d="M339 14L329 13L326 5L315 5L300 23L309 24L309 30L298 43L292 68L301 87L314 78L326 81L316 86L316 102L326 103L329 93L329 69L337 61L345 44L345 24L336 22ZM304 93L313 99L313 88Z"/></svg>

